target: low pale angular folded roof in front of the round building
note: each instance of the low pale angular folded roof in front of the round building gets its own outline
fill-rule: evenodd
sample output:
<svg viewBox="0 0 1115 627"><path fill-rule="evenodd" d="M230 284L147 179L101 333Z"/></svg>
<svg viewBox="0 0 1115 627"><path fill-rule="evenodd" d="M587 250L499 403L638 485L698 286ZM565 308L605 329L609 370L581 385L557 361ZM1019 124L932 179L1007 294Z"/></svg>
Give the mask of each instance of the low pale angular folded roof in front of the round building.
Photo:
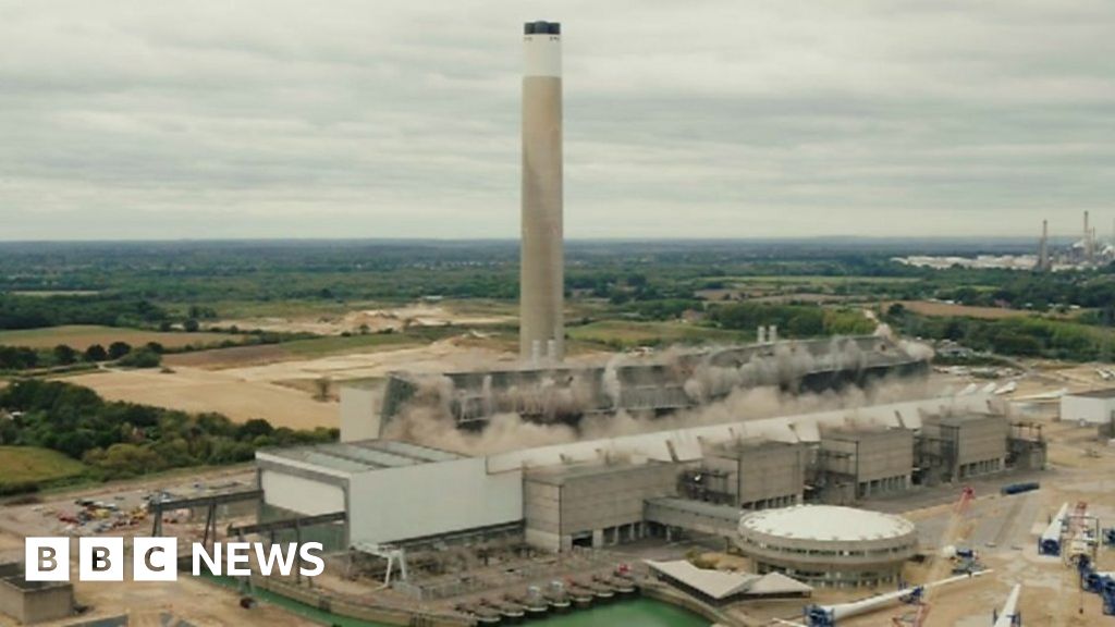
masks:
<svg viewBox="0 0 1115 627"><path fill-rule="evenodd" d="M643 560L655 572L712 600L725 601L743 597L808 596L813 588L785 575L770 572L728 572L697 568L686 560Z"/></svg>

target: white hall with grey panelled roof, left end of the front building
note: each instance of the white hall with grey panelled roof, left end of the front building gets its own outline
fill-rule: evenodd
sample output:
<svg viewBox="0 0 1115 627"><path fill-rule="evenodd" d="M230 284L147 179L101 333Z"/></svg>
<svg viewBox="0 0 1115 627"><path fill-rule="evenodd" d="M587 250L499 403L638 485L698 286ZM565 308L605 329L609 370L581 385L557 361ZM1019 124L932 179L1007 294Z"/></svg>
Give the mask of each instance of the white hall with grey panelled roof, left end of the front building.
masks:
<svg viewBox="0 0 1115 627"><path fill-rule="evenodd" d="M261 451L255 462L261 518L342 513L332 548L420 541L523 520L522 471L491 473L484 457L367 441Z"/></svg>

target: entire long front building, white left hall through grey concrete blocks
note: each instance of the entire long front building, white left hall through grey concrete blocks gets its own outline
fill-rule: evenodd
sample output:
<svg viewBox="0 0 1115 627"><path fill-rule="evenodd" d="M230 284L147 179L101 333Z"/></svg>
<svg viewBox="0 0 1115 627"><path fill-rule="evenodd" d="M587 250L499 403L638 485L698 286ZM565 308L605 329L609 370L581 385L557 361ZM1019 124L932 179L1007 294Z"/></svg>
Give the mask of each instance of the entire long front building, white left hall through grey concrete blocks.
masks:
<svg viewBox="0 0 1115 627"><path fill-rule="evenodd" d="M265 518L336 514L333 547L512 533L564 551L671 530L734 533L741 508L826 502L823 486L809 493L814 476L847 476L859 498L899 490L922 431L950 451L940 479L1001 469L1008 421L990 401L929 398L486 456L369 440L261 451L256 461Z"/></svg>

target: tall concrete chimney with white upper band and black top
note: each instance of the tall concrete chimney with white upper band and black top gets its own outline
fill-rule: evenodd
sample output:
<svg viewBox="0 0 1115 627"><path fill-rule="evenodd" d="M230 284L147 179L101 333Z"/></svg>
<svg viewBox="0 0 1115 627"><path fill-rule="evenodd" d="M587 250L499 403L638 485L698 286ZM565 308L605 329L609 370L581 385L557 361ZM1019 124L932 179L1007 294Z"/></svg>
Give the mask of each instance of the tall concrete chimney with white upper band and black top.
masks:
<svg viewBox="0 0 1115 627"><path fill-rule="evenodd" d="M518 349L526 360L560 361L565 354L561 25L527 22L523 33Z"/></svg>

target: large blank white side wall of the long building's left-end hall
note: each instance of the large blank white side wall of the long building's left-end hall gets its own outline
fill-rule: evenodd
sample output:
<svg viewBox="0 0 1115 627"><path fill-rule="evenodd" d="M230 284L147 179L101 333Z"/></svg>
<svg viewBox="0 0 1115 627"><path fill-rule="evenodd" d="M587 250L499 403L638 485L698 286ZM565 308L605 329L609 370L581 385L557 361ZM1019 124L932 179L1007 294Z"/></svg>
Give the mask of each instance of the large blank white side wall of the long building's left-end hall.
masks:
<svg viewBox="0 0 1115 627"><path fill-rule="evenodd" d="M483 457L352 476L352 542L394 542L523 519L523 473L488 474Z"/></svg>

